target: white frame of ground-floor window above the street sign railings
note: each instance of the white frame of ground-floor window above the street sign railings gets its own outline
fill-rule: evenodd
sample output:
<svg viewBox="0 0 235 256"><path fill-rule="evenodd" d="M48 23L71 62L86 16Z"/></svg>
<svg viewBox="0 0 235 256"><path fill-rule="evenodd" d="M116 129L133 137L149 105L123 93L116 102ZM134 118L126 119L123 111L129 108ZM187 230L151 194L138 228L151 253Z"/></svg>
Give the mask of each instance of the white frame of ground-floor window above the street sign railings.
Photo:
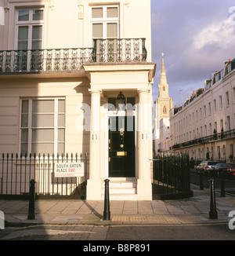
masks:
<svg viewBox="0 0 235 256"><path fill-rule="evenodd" d="M21 153L21 134L22 130L27 129L28 134L27 134L27 155L31 152L32 148L32 130L34 129L53 129L54 130L54 146L53 146L53 153L54 155L57 155L58 153L58 145L59 145L59 140L58 140L58 131L60 129L64 130L64 137L65 137L65 123L66 123L66 109L64 109L64 112L60 113L59 108L58 108L58 102L60 100L64 101L64 106L66 108L66 99L65 97L31 97L31 98L21 98L20 99L20 136L19 136L19 152ZM22 127L22 101L28 101L28 119L27 119L27 127ZM33 117L33 101L54 101L54 125L52 127L33 127L32 126L32 117ZM64 126L58 126L58 116L59 114L64 114ZM65 141L63 141L64 148L63 148L63 153L65 150ZM40 152L41 154L45 153L48 154L48 152Z"/></svg>

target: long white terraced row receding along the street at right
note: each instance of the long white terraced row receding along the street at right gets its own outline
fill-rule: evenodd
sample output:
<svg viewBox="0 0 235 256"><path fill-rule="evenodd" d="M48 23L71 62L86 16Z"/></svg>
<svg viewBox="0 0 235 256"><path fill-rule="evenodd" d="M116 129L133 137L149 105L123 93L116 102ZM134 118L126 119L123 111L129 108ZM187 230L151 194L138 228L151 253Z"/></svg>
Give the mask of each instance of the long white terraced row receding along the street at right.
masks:
<svg viewBox="0 0 235 256"><path fill-rule="evenodd" d="M234 162L235 59L205 80L201 89L170 113L172 152L190 159Z"/></svg>

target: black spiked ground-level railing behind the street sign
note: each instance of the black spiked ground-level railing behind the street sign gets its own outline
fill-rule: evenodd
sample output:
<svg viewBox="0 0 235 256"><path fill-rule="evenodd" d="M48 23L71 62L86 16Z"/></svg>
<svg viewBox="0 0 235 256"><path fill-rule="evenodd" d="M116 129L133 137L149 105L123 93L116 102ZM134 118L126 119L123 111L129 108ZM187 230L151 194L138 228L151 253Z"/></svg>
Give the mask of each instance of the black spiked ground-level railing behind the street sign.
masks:
<svg viewBox="0 0 235 256"><path fill-rule="evenodd" d="M56 177L56 164L84 163L82 177ZM37 196L83 196L87 180L85 155L0 155L0 197L27 196L34 179Z"/></svg>

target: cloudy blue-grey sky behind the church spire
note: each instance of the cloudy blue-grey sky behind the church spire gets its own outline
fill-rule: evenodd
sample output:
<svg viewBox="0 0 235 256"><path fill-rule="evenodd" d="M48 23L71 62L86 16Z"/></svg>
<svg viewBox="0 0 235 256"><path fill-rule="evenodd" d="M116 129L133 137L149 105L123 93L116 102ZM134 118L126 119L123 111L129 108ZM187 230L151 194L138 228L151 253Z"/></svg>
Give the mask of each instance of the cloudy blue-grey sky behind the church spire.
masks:
<svg viewBox="0 0 235 256"><path fill-rule="evenodd" d="M151 0L151 12L154 100L164 53L170 97L182 105L235 58L235 0Z"/></svg>

